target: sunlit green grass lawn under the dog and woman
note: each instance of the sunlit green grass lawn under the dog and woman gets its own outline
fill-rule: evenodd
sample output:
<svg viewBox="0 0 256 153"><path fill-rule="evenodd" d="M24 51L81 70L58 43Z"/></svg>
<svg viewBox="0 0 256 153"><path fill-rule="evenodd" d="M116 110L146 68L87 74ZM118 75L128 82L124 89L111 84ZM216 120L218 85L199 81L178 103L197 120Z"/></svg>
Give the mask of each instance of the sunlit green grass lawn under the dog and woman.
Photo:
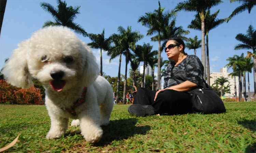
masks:
<svg viewBox="0 0 256 153"><path fill-rule="evenodd" d="M74 127L47 140L45 106L0 104L0 148L20 133L6 152L256 152L256 102L225 106L224 114L134 117L115 105L102 139L90 144Z"/></svg>

